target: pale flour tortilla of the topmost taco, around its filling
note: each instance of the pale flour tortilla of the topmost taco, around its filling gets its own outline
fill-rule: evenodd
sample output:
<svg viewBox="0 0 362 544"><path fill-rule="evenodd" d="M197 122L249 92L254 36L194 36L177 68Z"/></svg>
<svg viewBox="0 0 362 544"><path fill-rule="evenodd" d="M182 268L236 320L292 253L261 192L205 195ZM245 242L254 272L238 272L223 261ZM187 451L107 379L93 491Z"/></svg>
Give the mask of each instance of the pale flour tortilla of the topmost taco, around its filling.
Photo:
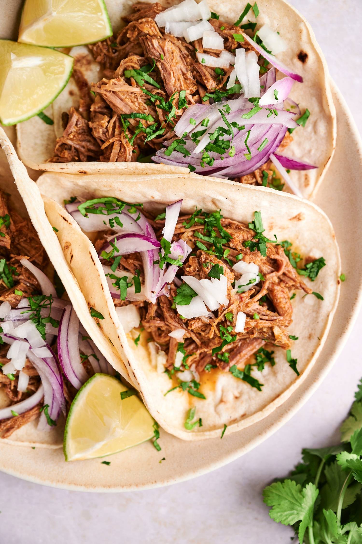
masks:
<svg viewBox="0 0 362 544"><path fill-rule="evenodd" d="M114 32L118 32L124 23L121 17L131 11L134 2L126 0L106 0L109 17ZM161 0L169 7L175 0ZM241 14L243 4L226 0L210 0L210 9L220 15L220 19L234 23ZM293 142L287 147L287 156L316 165L315 170L292 171L291 178L303 196L309 198L322 180L322 176L332 159L336 138L336 116L329 86L329 73L326 61L318 46L314 32L304 17L284 0L259 0L260 14L257 28L269 24L272 28L283 28L283 38L289 48L278 54L278 60L285 63L292 71L303 77L303 84L293 86L290 97L303 108L311 112L306 126L293 133ZM73 51L74 50L74 51ZM73 48L71 54L87 55L84 47ZM88 52L85 77L91 82L98 81L96 63ZM56 138L62 134L61 115L69 112L71 106L79 105L77 87L70 79L69 84L45 110L54 119L54 125L47 125L37 116L17 125L17 148L23 162L33 169L69 172L73 174L119 174L119 175L158 175L170 172L188 174L188 169L177 166L165 166L155 163L102 163L71 162L51 163Z"/></svg>

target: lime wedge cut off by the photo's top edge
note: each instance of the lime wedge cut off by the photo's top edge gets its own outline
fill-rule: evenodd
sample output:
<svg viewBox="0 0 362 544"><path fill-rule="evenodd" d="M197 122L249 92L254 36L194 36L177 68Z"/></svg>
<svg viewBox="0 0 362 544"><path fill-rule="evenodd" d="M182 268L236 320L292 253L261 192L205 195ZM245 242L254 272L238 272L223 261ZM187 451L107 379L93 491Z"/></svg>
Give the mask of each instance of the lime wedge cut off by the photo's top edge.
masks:
<svg viewBox="0 0 362 544"><path fill-rule="evenodd" d="M91 44L112 36L103 0L26 0L19 41L48 47Z"/></svg>

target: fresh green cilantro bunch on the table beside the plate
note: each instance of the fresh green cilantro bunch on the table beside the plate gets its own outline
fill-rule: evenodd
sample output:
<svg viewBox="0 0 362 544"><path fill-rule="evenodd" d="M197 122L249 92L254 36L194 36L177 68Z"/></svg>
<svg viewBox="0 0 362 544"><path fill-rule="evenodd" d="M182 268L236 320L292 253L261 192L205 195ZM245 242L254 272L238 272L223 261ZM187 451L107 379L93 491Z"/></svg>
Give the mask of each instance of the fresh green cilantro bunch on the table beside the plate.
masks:
<svg viewBox="0 0 362 544"><path fill-rule="evenodd" d="M341 433L342 444L304 448L289 477L263 490L269 516L292 526L299 544L362 542L362 379Z"/></svg>

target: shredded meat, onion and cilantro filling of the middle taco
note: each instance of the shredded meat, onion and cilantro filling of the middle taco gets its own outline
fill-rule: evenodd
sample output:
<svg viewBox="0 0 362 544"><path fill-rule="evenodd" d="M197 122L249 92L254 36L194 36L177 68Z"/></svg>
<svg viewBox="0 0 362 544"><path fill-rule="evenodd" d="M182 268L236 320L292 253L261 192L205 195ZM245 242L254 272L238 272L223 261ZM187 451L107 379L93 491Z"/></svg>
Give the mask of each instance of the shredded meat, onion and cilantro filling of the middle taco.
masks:
<svg viewBox="0 0 362 544"><path fill-rule="evenodd" d="M182 215L182 200L158 215L114 197L72 200L73 219L99 233L95 248L128 341L146 335L153 366L173 380L169 391L205 399L200 384L214 369L262 391L253 367L273 366L274 346L299 375L291 300L298 290L323 300L303 281L316 279L323 257L303 259L289 241L267 238L257 211L244 224L221 211Z"/></svg>

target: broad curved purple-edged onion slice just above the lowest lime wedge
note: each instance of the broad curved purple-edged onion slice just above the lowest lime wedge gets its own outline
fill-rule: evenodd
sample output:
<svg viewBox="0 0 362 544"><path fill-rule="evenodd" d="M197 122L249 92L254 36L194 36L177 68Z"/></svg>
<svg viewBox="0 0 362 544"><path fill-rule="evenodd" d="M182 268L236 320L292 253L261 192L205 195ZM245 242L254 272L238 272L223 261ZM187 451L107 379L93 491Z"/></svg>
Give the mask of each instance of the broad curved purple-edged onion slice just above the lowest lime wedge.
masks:
<svg viewBox="0 0 362 544"><path fill-rule="evenodd" d="M66 378L77 390L88 380L79 355L78 330L79 319L72 306L66 306L59 323L58 357Z"/></svg>

